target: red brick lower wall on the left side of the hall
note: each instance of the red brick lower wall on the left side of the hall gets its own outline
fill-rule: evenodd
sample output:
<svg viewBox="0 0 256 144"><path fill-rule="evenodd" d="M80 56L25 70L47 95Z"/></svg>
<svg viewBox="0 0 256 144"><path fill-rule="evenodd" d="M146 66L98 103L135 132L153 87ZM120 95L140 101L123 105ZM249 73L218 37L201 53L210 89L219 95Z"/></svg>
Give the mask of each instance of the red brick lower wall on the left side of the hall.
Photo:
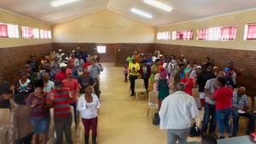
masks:
<svg viewBox="0 0 256 144"><path fill-rule="evenodd" d="M52 43L0 49L0 70L4 73L4 79L14 84L20 78L18 72L24 69L31 54L39 60L43 55L49 55L51 50Z"/></svg>

